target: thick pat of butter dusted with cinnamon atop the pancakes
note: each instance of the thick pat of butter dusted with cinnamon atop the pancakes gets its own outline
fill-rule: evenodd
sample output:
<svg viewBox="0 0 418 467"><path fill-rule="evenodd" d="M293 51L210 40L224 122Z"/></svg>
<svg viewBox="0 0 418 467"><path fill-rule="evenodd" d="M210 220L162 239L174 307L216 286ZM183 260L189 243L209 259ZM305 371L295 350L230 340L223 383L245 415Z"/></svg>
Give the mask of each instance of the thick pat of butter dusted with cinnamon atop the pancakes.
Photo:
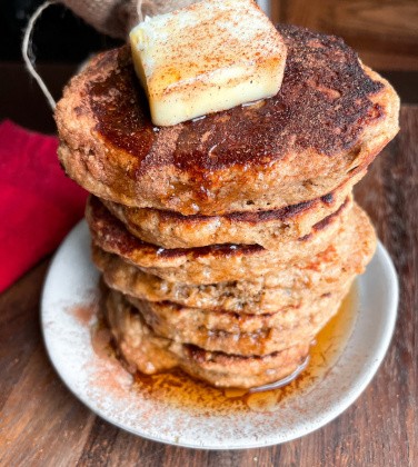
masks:
<svg viewBox="0 0 418 467"><path fill-rule="evenodd" d="M152 122L171 126L275 96L286 44L252 0L205 0L130 32Z"/></svg>

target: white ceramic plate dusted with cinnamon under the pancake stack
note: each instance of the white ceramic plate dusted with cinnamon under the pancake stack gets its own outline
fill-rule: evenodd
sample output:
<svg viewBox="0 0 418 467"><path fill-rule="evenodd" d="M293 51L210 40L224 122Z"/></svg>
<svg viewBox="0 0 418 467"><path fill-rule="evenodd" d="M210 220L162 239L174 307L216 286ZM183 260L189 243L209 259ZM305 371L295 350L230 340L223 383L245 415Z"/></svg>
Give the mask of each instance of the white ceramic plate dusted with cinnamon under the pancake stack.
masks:
<svg viewBox="0 0 418 467"><path fill-rule="evenodd" d="M69 389L109 423L157 441L205 449L269 446L307 435L350 406L376 374L392 336L398 282L379 244L358 279L358 317L347 347L324 378L285 399L273 413L171 405L147 397L118 362L92 348L92 300L98 272L90 237L80 222L59 248L42 297L42 329L49 356Z"/></svg>

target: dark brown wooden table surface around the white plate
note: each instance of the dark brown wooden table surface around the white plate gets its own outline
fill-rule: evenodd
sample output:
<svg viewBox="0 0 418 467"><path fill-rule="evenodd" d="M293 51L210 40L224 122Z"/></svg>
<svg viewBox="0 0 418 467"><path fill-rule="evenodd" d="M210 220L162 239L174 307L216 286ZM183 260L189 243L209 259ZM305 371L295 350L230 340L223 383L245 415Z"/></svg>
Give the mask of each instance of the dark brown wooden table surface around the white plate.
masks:
<svg viewBox="0 0 418 467"><path fill-rule="evenodd" d="M50 258L0 295L1 466L412 466L418 463L418 107L357 188L399 274L396 334L378 374L336 420L270 448L208 451L149 441L72 396L46 354L39 300Z"/></svg>

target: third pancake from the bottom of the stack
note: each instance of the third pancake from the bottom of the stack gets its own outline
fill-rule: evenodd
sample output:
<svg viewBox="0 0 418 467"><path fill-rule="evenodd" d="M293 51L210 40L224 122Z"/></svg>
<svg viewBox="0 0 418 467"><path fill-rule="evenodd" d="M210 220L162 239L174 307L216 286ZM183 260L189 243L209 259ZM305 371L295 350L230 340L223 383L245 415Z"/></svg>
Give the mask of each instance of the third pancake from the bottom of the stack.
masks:
<svg viewBox="0 0 418 467"><path fill-rule="evenodd" d="M365 213L356 229L337 236L322 252L303 267L292 265L269 276L210 285L170 282L143 272L117 255L93 246L92 259L106 284L141 300L172 301L191 308L247 314L276 312L299 307L312 296L328 294L361 274L376 248L376 235Z"/></svg>

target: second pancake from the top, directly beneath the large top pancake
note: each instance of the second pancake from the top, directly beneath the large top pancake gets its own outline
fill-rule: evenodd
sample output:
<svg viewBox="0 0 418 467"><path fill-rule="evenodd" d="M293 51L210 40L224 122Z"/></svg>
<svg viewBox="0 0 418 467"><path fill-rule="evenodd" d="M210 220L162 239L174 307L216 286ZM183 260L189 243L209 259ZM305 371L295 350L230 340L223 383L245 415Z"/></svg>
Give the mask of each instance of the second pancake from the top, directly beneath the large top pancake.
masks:
<svg viewBox="0 0 418 467"><path fill-rule="evenodd" d="M315 223L336 212L362 176L358 173L325 197L270 211L182 216L151 208L130 208L104 199L102 202L133 236L162 248L241 244L275 250L285 241L308 235Z"/></svg>

